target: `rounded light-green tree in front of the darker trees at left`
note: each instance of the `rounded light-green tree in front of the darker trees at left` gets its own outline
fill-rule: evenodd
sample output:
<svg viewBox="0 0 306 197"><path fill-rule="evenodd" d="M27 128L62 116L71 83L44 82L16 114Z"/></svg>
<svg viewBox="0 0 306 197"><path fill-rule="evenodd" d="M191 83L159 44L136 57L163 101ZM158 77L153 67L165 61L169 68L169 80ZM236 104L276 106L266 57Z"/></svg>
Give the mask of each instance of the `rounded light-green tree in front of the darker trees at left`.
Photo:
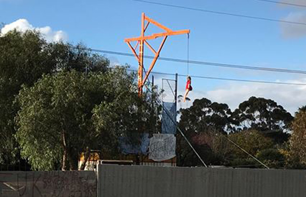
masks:
<svg viewBox="0 0 306 197"><path fill-rule="evenodd" d="M74 160L72 154L77 157L83 142L89 142L90 93L95 92L90 85L84 74L63 71L45 75L33 87L21 90L16 136L22 156L33 168L54 169L64 149Z"/></svg>

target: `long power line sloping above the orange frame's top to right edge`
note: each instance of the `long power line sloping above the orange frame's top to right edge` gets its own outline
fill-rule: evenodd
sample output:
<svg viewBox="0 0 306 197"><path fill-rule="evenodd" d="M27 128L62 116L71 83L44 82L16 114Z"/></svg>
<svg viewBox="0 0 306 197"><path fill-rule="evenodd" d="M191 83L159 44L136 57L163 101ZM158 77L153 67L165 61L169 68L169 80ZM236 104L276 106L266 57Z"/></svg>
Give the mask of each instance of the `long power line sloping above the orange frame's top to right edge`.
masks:
<svg viewBox="0 0 306 197"><path fill-rule="evenodd" d="M277 19L271 19L271 18L264 18L264 17L257 17L257 16L249 16L249 15L242 15L242 14L234 14L229 12L221 12L221 11L213 11L213 10L206 10L206 9L200 9L200 8L194 8L194 7L187 7L187 6L181 6L181 5L173 5L173 4L166 4L166 3L158 3L158 2L152 2L147 0L133 0L138 2L144 2L144 3L151 3L156 5L163 5L168 7L175 7L175 8L181 8L181 9L189 9L193 11L201 11L201 12L208 12L208 13L214 13L214 14L222 14L222 15L228 15L228 16L237 16L237 17L243 17L243 18L249 18L249 19L258 19L258 20L265 20L265 21L273 21L273 22L281 22L281 23L290 23L290 24L296 24L296 25L306 25L306 23L300 23L300 22L294 22L294 21L286 21L286 20L277 20Z"/></svg>

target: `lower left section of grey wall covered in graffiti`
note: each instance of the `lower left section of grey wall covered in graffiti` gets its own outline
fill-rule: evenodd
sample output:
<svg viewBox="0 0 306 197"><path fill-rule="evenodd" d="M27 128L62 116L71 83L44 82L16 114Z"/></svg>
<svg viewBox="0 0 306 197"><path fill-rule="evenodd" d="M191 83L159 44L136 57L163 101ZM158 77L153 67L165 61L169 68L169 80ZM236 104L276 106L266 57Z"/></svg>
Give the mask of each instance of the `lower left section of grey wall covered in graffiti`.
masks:
<svg viewBox="0 0 306 197"><path fill-rule="evenodd" d="M0 197L96 197L94 171L0 171Z"/></svg>

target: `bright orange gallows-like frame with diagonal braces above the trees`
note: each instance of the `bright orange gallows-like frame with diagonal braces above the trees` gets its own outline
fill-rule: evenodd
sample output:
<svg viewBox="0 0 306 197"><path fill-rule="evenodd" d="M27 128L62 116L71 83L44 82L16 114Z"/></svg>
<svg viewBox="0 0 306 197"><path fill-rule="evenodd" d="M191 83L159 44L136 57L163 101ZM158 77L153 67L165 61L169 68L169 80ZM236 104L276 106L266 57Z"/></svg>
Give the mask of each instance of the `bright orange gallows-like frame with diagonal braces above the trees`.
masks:
<svg viewBox="0 0 306 197"><path fill-rule="evenodd" d="M145 26L145 21L147 21L147 24ZM145 36L145 32L149 26L149 24L152 23L153 25L159 27L160 29L164 30L165 32L163 33L153 33L152 35L149 36ZM163 47L167 37L169 35L179 35L179 34L185 34L185 33L190 33L190 30L180 30L180 31L172 31L171 29L157 23L156 21L154 21L153 19L147 17L145 15L145 13L142 13L141 15L141 34L140 37L133 37L133 38L126 38L124 39L124 41L128 44L128 46L130 47L130 49L132 50L133 54L135 55L137 61L138 61L138 95L141 96L142 95L142 90L143 90L143 86L146 83L146 80L149 77L149 74L151 72L151 70L153 69L158 57L159 57L159 53L161 51L161 48ZM148 43L147 40L151 40L151 39L155 39L157 37L163 37L163 40L160 43L160 46L158 48L158 50L154 50L153 47ZM135 47L133 47L131 45L131 41L137 41ZM149 70L147 71L145 78L143 79L143 69L144 69L144 44L146 44L149 49L153 52L154 54L154 58L153 61L149 67ZM136 49L139 45L139 54L136 53Z"/></svg>

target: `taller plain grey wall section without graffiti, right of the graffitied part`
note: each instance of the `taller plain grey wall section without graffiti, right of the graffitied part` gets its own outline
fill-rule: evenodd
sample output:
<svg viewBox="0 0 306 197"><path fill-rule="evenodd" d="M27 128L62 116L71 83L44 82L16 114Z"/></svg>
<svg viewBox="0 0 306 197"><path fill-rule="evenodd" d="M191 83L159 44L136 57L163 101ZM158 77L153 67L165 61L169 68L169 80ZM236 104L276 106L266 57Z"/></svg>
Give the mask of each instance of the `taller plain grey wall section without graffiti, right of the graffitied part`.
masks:
<svg viewBox="0 0 306 197"><path fill-rule="evenodd" d="M306 197L306 170L98 166L98 197Z"/></svg>

